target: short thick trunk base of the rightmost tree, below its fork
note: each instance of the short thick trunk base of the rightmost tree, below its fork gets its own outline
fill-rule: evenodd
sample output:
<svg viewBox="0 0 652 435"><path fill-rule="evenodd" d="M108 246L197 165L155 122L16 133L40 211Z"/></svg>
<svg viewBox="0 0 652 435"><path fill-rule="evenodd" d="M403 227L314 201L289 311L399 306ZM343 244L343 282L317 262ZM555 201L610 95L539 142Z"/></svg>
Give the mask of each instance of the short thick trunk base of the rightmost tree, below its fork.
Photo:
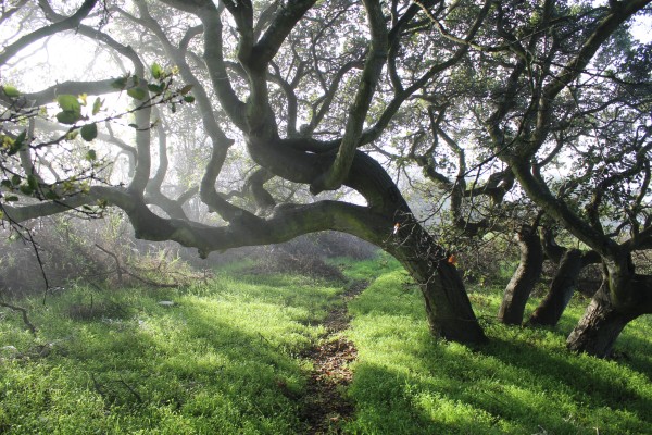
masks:
<svg viewBox="0 0 652 435"><path fill-rule="evenodd" d="M566 346L569 350L606 358L611 356L614 344L627 323L638 315L632 312L619 312L614 307L609 284L604 281L566 339Z"/></svg>

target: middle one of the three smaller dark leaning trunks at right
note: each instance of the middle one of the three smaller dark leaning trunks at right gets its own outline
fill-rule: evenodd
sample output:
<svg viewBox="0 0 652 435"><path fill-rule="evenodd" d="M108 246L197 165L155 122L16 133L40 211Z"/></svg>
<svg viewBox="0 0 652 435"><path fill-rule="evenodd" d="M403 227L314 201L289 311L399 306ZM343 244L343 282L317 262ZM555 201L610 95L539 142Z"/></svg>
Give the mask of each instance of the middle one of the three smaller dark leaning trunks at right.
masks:
<svg viewBox="0 0 652 435"><path fill-rule="evenodd" d="M550 290L530 316L529 324L546 326L557 324L575 293L582 265L582 252L579 249L568 249L562 256L550 284Z"/></svg>

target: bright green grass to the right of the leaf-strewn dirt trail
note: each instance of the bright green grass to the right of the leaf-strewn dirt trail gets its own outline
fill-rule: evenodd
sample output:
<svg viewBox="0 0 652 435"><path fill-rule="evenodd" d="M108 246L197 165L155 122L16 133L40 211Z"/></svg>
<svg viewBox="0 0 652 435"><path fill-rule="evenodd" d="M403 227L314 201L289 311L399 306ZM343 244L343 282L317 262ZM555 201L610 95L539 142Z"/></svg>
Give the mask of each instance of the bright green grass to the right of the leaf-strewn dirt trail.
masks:
<svg viewBox="0 0 652 435"><path fill-rule="evenodd" d="M649 318L626 328L617 362L601 361L564 347L587 300L574 300L559 331L506 327L493 320L500 291L484 290L471 298L491 344L472 349L429 335L405 281L400 270L385 274L349 306L359 350L349 432L652 433Z"/></svg>

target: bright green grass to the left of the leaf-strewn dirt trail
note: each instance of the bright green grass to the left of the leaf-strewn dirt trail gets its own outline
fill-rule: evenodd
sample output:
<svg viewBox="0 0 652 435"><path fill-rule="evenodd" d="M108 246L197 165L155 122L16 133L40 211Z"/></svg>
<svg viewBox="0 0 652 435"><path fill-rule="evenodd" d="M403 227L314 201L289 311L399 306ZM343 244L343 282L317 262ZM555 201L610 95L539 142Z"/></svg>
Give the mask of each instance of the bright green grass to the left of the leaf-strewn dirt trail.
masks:
<svg viewBox="0 0 652 435"><path fill-rule="evenodd" d="M309 368L298 353L341 288L292 276L220 276L185 290L85 288L4 311L0 433L290 434ZM71 307L92 319L74 320ZM164 308L160 300L176 306ZM79 308L82 307L82 308ZM77 315L79 318L79 315ZM36 358L38 343L53 343Z"/></svg>

